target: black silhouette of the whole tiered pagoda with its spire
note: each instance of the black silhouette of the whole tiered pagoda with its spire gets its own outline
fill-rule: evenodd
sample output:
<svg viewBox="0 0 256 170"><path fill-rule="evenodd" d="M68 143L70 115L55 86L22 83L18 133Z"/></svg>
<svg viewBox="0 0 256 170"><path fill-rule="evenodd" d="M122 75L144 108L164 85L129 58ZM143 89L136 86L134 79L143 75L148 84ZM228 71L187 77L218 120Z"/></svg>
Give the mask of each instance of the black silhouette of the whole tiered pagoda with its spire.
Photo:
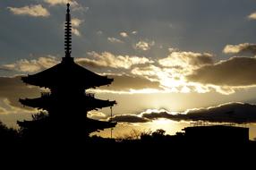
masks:
<svg viewBox="0 0 256 170"><path fill-rule="evenodd" d="M60 64L33 75L21 77L27 84L50 89L42 92L40 98L20 99L23 106L30 106L47 111L47 116L34 116L31 121L18 121L24 136L46 138L48 136L89 136L106 128L115 127L111 121L90 119L91 110L112 107L115 101L101 100L86 92L99 86L109 85L113 79L90 72L75 64L72 53L72 23L70 4L67 4L64 32L65 56Z"/></svg>

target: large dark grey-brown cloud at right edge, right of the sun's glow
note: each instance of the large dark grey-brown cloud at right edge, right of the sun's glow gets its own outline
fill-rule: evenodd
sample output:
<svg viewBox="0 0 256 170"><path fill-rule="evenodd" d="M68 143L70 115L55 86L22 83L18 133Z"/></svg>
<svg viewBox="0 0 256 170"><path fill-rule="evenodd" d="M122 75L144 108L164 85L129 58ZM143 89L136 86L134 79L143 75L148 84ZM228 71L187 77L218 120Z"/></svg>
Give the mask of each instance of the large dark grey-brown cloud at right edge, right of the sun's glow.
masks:
<svg viewBox="0 0 256 170"><path fill-rule="evenodd" d="M256 84L255 72L255 57L232 57L203 66L186 76L186 79L218 86L252 86Z"/></svg>

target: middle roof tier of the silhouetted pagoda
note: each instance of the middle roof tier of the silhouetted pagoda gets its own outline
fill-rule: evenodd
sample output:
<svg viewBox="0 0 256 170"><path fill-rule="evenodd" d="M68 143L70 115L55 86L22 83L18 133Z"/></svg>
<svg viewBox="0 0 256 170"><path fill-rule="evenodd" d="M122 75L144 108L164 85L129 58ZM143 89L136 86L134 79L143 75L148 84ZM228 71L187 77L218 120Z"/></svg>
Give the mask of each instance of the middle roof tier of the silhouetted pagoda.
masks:
<svg viewBox="0 0 256 170"><path fill-rule="evenodd" d="M93 97L83 96L80 98L55 98L53 96L43 96L41 98L25 98L19 100L24 106L31 106L38 109L49 110L78 110L90 111L107 106L114 106L115 100L101 100Z"/></svg>

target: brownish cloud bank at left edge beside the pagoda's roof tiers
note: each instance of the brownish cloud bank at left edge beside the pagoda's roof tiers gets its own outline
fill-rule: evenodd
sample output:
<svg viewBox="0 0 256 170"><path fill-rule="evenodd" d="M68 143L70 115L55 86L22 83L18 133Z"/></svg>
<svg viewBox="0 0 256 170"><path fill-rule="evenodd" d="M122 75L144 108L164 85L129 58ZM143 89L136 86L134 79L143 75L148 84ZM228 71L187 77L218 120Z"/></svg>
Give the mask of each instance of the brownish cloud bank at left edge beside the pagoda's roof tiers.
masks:
<svg viewBox="0 0 256 170"><path fill-rule="evenodd" d="M37 98L40 89L27 86L21 76L0 77L0 120L11 127L17 127L17 120L30 119L38 112L31 107L23 107L19 98Z"/></svg>

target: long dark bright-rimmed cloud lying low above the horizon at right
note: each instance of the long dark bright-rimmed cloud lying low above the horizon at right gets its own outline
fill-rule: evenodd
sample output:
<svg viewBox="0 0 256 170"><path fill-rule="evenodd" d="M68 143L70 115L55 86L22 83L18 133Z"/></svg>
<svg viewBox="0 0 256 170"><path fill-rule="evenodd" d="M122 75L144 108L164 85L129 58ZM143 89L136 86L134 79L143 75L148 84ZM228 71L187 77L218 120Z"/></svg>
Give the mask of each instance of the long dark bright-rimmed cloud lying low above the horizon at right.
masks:
<svg viewBox="0 0 256 170"><path fill-rule="evenodd" d="M181 113L170 113L165 109L148 109L140 115L116 115L114 120L125 123L146 123L159 118L209 123L256 123L256 105L226 103L207 108L188 109Z"/></svg>

